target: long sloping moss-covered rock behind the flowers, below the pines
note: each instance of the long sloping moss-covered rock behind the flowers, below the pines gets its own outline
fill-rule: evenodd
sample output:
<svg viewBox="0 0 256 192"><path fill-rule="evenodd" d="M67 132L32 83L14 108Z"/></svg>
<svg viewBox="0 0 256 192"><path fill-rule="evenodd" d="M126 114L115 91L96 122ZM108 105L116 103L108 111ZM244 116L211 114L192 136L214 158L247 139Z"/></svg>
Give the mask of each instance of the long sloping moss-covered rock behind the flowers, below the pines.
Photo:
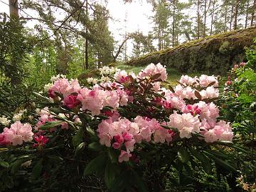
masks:
<svg viewBox="0 0 256 192"><path fill-rule="evenodd" d="M182 73L204 72L223 74L234 63L245 60L245 47L249 47L256 37L256 27L220 33L174 48L159 50L129 60L128 65L148 65L161 63L167 68L176 68Z"/></svg>

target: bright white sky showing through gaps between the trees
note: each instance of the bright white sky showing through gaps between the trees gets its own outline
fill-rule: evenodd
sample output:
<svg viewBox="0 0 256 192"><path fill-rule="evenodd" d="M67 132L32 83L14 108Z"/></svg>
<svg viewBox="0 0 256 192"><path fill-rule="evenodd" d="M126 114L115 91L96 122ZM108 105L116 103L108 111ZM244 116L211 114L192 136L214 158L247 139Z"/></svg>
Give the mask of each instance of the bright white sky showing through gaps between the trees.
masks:
<svg viewBox="0 0 256 192"><path fill-rule="evenodd" d="M9 4L9 0L0 0L0 12L9 14L9 6L6 4ZM110 16L112 16L112 19L109 21L109 27L115 41L122 41L125 28L127 33L139 30L144 33L144 35L151 31L153 25L149 17L153 16L153 12L151 5L148 4L146 0L137 0L127 4L124 4L123 0L109 0L105 5L107 5ZM30 14L33 15L32 13ZM126 22L125 18L127 18ZM28 23L28 27L32 28L34 23L35 21ZM131 53L131 41L127 42L127 48L127 52Z"/></svg>

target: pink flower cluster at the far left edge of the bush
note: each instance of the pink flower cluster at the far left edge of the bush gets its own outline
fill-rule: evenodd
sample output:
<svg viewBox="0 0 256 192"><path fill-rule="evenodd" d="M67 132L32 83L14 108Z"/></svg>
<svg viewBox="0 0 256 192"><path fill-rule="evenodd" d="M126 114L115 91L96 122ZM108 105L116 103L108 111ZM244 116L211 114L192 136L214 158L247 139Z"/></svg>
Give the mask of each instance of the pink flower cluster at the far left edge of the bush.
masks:
<svg viewBox="0 0 256 192"><path fill-rule="evenodd" d="M0 134L0 144L21 145L23 142L30 142L33 139L32 127L30 124L15 122L10 128L4 128Z"/></svg>

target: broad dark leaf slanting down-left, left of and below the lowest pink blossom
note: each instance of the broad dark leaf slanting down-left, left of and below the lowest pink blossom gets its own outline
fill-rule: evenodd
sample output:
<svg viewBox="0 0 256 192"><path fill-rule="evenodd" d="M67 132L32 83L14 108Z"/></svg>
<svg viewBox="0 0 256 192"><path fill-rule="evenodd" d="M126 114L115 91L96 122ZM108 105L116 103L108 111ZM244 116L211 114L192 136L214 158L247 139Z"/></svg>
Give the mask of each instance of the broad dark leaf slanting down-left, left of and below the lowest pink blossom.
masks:
<svg viewBox="0 0 256 192"><path fill-rule="evenodd" d="M107 163L107 154L100 154L95 159L92 159L89 164L85 167L83 172L84 176L88 176L90 174L101 174L106 166Z"/></svg>

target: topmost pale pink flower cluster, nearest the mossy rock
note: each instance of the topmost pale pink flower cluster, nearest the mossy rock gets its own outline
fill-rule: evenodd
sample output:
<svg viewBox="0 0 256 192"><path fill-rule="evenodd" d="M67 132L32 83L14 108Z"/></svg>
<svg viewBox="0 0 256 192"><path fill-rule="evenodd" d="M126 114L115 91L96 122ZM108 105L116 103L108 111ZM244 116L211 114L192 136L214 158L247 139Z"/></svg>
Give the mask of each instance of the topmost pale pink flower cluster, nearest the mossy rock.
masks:
<svg viewBox="0 0 256 192"><path fill-rule="evenodd" d="M167 79L167 73L166 73L166 68L164 68L163 65L160 63L157 63L156 65L154 63L151 63L146 66L142 72L139 73L139 78L145 78L145 77L152 77L153 75L156 75L160 73L160 79L161 80L166 80Z"/></svg>

